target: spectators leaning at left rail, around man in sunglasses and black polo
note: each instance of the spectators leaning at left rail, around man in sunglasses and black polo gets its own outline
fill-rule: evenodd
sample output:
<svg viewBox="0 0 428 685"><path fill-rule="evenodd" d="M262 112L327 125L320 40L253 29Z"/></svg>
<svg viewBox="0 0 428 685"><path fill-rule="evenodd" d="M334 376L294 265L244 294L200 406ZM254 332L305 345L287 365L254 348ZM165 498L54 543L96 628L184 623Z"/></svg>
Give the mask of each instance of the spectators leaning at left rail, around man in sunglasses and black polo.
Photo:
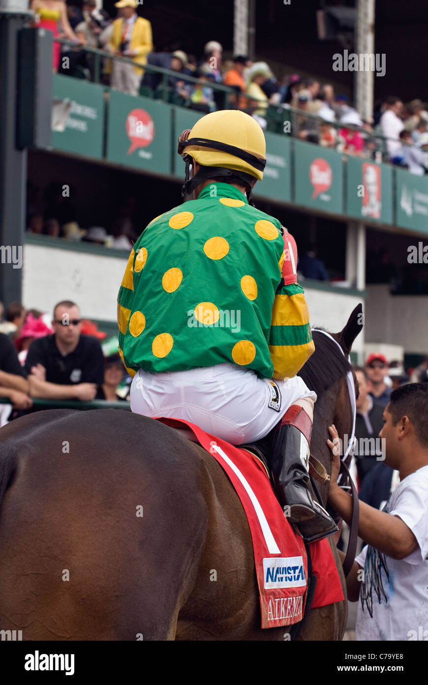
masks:
<svg viewBox="0 0 428 685"><path fill-rule="evenodd" d="M126 401L131 378L118 354L118 340L82 319L75 302L55 306L53 318L0 303L0 426L27 412L33 400ZM103 347L101 340L105 340Z"/></svg>

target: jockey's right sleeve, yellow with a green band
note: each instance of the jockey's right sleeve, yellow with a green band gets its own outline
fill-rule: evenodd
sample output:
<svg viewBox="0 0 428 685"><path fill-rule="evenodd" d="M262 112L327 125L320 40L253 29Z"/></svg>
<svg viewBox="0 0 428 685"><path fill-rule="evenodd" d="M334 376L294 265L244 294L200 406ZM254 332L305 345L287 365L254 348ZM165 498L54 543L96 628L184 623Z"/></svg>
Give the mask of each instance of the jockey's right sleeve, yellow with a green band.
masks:
<svg viewBox="0 0 428 685"><path fill-rule="evenodd" d="M269 334L273 378L293 378L314 351L302 286L280 286L273 301Z"/></svg>

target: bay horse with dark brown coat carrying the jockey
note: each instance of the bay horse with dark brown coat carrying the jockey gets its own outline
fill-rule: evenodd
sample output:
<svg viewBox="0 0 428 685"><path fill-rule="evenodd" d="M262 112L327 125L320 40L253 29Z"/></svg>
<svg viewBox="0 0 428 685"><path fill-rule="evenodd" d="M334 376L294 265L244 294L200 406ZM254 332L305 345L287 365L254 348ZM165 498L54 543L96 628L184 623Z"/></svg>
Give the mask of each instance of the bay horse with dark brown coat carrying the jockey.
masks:
<svg viewBox="0 0 428 685"><path fill-rule="evenodd" d="M327 427L351 433L345 377L361 311L332 334L344 354L314 332L300 373L318 395L311 451L329 473ZM0 507L0 630L23 640L284 640L286 627L260 628L250 529L226 473L159 421L115 409L12 421L0 430ZM341 640L346 620L346 599L311 610L299 639Z"/></svg>

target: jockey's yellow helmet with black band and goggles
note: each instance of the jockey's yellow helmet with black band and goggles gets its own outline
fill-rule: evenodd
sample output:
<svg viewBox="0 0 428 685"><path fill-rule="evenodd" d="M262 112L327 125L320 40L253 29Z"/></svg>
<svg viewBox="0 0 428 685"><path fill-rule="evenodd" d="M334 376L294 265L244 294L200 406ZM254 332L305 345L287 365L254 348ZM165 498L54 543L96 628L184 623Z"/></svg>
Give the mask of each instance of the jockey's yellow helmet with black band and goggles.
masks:
<svg viewBox="0 0 428 685"><path fill-rule="evenodd" d="M261 181L266 164L266 140L263 129L252 116L239 110L221 110L202 116L196 122L187 138L182 134L178 145L181 155L190 155L202 166L217 166L223 169L243 171ZM188 141L188 142L187 142ZM203 142L203 145L198 145ZM209 142L218 143L227 149L235 148L242 153L240 158L233 152L210 147Z"/></svg>

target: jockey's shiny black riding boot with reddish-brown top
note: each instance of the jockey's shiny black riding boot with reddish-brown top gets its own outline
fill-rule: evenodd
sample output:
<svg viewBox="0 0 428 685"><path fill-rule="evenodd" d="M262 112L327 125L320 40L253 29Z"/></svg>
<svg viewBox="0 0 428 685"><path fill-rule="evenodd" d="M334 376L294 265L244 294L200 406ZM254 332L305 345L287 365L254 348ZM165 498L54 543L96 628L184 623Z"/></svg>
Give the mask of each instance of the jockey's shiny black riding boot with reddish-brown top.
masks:
<svg viewBox="0 0 428 685"><path fill-rule="evenodd" d="M271 453L271 470L278 499L287 519L297 525L307 543L321 540L338 530L332 517L310 494L308 460L311 429L305 410L297 405L291 406L273 434Z"/></svg>

